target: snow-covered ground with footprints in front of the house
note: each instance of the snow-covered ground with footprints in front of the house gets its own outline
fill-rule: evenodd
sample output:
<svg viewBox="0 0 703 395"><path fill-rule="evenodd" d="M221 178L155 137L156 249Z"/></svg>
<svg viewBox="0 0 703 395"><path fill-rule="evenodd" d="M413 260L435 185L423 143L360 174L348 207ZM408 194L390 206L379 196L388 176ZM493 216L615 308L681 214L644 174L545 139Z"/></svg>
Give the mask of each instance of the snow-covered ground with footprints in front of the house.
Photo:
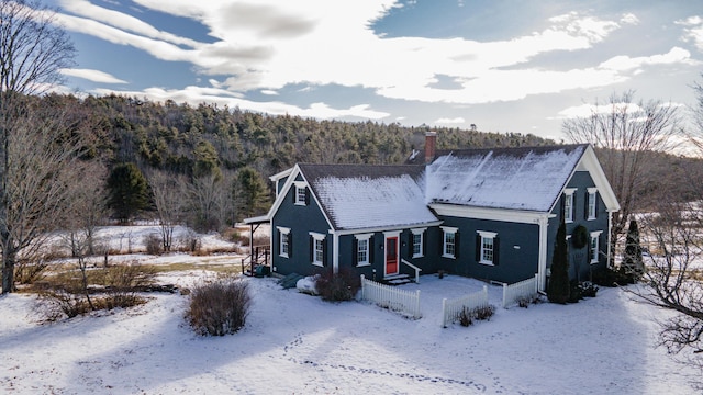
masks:
<svg viewBox="0 0 703 395"><path fill-rule="evenodd" d="M158 258L167 262L180 255ZM208 259L192 257L190 259ZM211 273L163 274L190 286ZM480 290L421 278L423 318L359 302L332 304L249 279L236 335L200 337L188 296L150 294L133 309L41 324L32 295L0 297L4 394L700 394L701 372L655 348L666 313L617 289L573 305L498 307L490 321L440 326L443 297ZM500 305L502 289L489 286Z"/></svg>

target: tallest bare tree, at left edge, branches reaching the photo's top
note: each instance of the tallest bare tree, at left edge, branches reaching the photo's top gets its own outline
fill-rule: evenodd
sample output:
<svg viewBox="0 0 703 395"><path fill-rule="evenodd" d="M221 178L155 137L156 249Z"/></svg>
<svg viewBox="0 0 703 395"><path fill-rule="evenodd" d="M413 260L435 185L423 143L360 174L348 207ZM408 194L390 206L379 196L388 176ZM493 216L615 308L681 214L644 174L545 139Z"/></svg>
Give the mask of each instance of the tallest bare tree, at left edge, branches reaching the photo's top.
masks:
<svg viewBox="0 0 703 395"><path fill-rule="evenodd" d="M44 211L55 208L58 203L52 200L62 198L60 187L47 185L63 182L62 171L47 171L46 166L40 166L43 170L38 170L29 163L48 160L57 165L56 161L69 160L76 154L70 148L65 156L30 153L31 158L24 160L20 156L25 153L14 150L20 143L32 143L34 138L48 148L43 137L52 129L47 128L47 122L40 122L46 120L35 120L38 122L36 125L27 122L32 114L25 108L25 97L45 92L62 80L60 70L72 65L75 48L66 32L54 24L54 16L55 13L38 0L0 0L0 246L3 293L13 290L18 252L38 236L38 224L25 223L15 228L18 221L47 219ZM53 126L65 129L64 125ZM30 142L22 142L25 138ZM68 140L67 145L70 147L75 142ZM30 174L22 174L26 182L19 182L20 174L15 171L22 168L43 178L30 181ZM31 191L45 194L27 196Z"/></svg>

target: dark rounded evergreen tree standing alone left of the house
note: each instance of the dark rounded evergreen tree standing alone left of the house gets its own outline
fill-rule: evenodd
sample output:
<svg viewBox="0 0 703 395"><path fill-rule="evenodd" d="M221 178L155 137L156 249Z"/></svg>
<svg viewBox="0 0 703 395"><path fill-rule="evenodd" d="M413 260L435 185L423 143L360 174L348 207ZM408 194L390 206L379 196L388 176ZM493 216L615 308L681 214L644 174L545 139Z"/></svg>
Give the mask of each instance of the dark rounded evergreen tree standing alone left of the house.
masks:
<svg viewBox="0 0 703 395"><path fill-rule="evenodd" d="M126 223L141 211L149 207L149 189L146 178L136 165L115 166L108 178L108 206L121 223Z"/></svg>

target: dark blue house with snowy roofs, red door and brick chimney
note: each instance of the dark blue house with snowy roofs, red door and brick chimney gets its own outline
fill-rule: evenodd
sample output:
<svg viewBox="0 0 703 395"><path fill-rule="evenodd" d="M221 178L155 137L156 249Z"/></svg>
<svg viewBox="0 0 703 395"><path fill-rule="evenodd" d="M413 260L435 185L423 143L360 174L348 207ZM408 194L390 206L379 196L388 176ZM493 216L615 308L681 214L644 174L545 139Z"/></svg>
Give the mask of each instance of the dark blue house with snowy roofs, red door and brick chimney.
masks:
<svg viewBox="0 0 703 395"><path fill-rule="evenodd" d="M272 176L270 211L247 219L270 223L272 272L346 268L380 281L445 271L503 283L537 274L545 290L562 219L572 279L610 264L620 206L590 145L435 145L427 133L419 165L299 163Z"/></svg>

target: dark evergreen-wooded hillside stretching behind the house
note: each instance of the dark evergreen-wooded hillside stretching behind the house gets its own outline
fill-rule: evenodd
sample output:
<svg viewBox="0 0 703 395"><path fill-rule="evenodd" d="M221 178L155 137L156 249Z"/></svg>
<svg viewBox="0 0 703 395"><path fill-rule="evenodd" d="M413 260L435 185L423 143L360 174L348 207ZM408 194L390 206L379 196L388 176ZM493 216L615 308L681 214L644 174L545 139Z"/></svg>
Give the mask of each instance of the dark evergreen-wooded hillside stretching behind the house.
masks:
<svg viewBox="0 0 703 395"><path fill-rule="evenodd" d="M212 178L216 188L231 192L222 199L236 201L227 214L221 213L226 222L265 212L263 196L271 193L267 177L295 162L402 163L413 149L423 149L424 133L429 129L438 133L438 149L557 144L531 134L269 116L212 104L156 103L114 94L85 99L52 94L41 100L64 102L85 117L98 137L90 156L101 159L108 173L118 165L132 162L147 178L159 172L191 185ZM690 168L701 166L699 160L663 154L652 154L651 159L651 178L643 180L643 193L651 194L662 181L688 177ZM641 199L641 205L649 200ZM201 225L222 222L204 221Z"/></svg>

